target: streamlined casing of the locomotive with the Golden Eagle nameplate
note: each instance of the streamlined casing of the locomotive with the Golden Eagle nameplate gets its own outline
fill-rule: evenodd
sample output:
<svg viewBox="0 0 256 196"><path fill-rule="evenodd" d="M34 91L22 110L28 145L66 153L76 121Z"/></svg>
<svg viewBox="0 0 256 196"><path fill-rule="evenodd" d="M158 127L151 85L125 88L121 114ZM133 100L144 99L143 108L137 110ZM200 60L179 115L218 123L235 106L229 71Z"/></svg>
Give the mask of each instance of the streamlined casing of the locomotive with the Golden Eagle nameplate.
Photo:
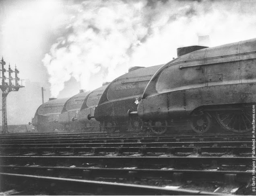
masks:
<svg viewBox="0 0 256 196"><path fill-rule="evenodd" d="M100 122L129 120L128 110L137 111L149 80L162 65L140 68L116 78L103 92L95 109L95 119Z"/></svg>

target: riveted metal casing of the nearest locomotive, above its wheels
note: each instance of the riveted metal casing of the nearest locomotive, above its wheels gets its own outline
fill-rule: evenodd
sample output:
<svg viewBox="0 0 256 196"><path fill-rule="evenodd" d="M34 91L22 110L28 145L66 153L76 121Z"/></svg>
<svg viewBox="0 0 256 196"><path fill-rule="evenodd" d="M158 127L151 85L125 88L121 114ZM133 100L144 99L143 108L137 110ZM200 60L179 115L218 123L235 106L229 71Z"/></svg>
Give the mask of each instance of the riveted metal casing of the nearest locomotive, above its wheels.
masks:
<svg viewBox="0 0 256 196"><path fill-rule="evenodd" d="M256 39L200 49L159 69L138 105L142 119L189 116L256 101Z"/></svg>

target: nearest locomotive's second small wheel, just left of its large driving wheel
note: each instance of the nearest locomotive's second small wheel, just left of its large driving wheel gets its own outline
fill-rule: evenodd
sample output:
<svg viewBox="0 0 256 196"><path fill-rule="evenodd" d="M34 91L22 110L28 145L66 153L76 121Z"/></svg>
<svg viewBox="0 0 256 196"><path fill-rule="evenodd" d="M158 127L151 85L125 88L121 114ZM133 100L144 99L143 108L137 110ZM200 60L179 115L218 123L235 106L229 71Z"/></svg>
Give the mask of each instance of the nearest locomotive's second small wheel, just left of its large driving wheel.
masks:
<svg viewBox="0 0 256 196"><path fill-rule="evenodd" d="M198 116L192 116L190 126L196 133L205 133L212 126L211 116L207 113Z"/></svg>

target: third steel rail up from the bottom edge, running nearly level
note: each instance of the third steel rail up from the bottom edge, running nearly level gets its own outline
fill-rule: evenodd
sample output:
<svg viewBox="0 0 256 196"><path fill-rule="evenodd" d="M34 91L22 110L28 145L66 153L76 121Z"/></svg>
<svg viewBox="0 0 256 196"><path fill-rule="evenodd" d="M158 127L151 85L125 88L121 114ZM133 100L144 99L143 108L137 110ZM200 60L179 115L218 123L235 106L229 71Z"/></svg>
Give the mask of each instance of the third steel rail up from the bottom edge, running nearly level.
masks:
<svg viewBox="0 0 256 196"><path fill-rule="evenodd" d="M251 167L251 157L180 157L180 156L0 156L5 165L19 163L32 165L56 165L56 164L105 164L105 165L173 165L175 167L202 167L202 165L244 165Z"/></svg>

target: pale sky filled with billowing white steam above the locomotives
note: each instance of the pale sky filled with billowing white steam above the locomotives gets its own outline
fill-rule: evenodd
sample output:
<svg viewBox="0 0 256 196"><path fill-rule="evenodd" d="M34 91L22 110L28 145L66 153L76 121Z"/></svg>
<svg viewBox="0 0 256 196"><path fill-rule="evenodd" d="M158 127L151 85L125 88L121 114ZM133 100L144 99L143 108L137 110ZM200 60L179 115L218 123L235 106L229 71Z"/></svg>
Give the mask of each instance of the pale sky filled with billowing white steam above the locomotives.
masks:
<svg viewBox="0 0 256 196"><path fill-rule="evenodd" d="M128 67L166 63L198 36L209 46L254 38L255 10L254 0L1 0L0 55L20 78L72 96Z"/></svg>

